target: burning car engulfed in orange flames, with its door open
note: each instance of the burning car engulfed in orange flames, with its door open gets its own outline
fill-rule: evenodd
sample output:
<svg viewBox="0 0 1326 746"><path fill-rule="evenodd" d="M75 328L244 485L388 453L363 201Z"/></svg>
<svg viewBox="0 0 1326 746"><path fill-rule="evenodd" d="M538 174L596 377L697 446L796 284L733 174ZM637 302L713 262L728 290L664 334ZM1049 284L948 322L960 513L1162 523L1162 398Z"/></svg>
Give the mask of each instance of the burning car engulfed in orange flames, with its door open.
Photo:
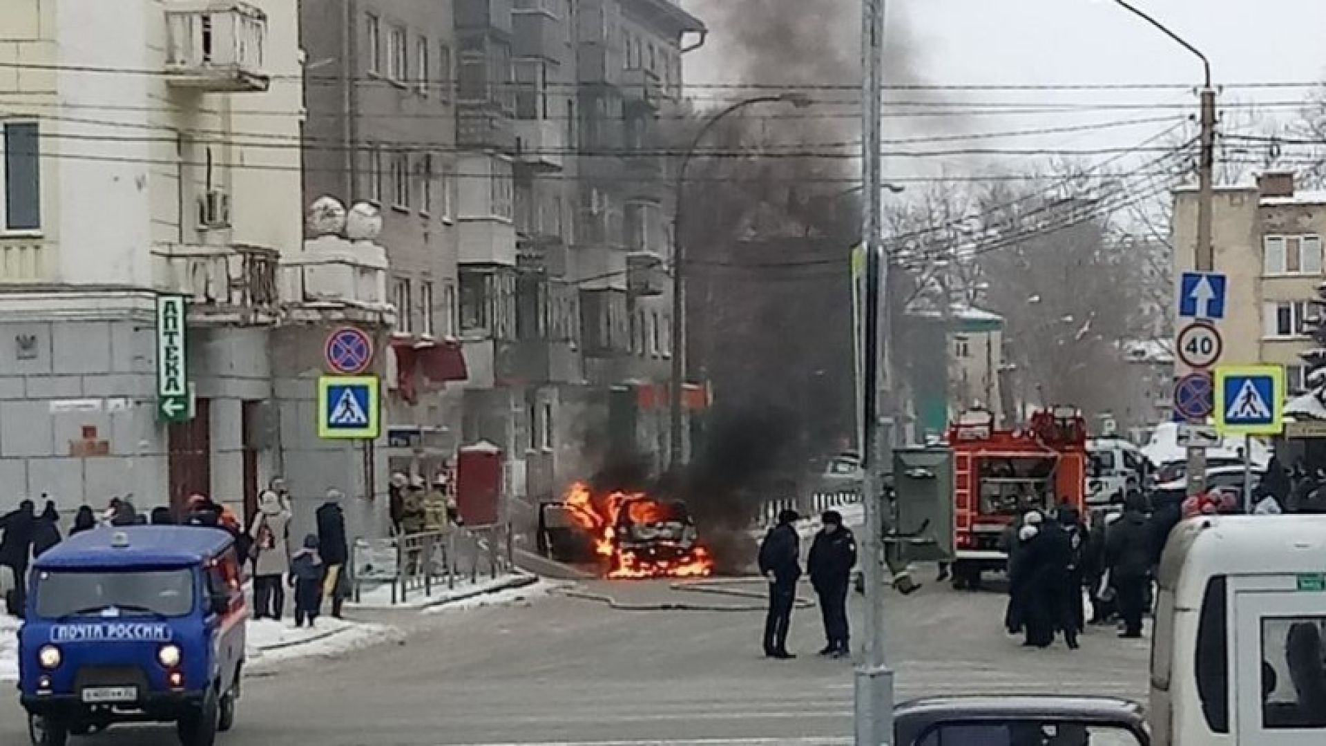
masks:
<svg viewBox="0 0 1326 746"><path fill-rule="evenodd" d="M574 555L591 554L609 577L713 573L713 559L680 500L659 500L644 492L595 494L575 483L561 503L544 506L540 523L541 544L549 554L573 561L582 559Z"/></svg>

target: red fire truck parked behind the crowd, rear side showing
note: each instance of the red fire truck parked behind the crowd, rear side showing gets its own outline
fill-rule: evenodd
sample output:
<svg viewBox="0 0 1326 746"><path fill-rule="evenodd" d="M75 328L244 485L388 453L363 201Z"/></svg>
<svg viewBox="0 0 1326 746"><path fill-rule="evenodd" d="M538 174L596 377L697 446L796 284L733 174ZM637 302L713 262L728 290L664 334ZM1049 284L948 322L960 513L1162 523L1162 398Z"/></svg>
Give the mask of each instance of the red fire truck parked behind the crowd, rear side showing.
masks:
<svg viewBox="0 0 1326 746"><path fill-rule="evenodd" d="M983 572L1005 569L1012 527L1026 510L1066 503L1083 511L1086 439L1086 421L1071 406L1037 411L1018 430L994 429L981 410L949 426L955 588L975 588Z"/></svg>

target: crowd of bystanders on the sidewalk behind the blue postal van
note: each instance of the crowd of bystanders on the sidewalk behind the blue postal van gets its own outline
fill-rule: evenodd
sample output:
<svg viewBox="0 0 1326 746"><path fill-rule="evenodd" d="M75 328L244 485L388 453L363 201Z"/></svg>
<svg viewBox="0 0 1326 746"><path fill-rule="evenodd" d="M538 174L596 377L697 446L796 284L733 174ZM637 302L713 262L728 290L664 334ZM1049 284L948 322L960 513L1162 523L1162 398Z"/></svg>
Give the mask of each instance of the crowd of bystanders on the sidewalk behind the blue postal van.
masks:
<svg viewBox="0 0 1326 746"><path fill-rule="evenodd" d="M46 498L46 495L42 495ZM325 599L330 600L332 616L339 619L345 599L350 595L346 564L350 548L346 540L343 499L339 490L328 490L316 512L316 532L304 538L298 548L290 544L290 494L281 478L274 478L259 495L257 512L249 526L225 504L203 494L192 494L179 511L160 506L149 515L139 514L130 496L111 498L106 510L98 514L90 506L81 506L74 514L69 535L91 531L98 526L207 526L227 531L235 539L236 555L245 567L252 567L253 617L280 620L285 609L285 587L294 589L294 623L313 624L320 616ZM7 611L23 616L27 605L28 567L61 542L60 511L54 500L46 499L41 514L33 500L23 500L19 507L0 516L0 571L9 573L5 597Z"/></svg>

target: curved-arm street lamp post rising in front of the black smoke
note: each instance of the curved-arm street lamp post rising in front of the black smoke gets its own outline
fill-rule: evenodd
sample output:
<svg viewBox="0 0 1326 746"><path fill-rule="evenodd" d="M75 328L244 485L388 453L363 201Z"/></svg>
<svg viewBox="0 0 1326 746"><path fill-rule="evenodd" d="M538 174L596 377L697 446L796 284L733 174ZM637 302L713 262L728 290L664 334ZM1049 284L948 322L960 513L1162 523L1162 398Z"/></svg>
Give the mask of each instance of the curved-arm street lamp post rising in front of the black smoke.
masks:
<svg viewBox="0 0 1326 746"><path fill-rule="evenodd" d="M686 170L695 157L696 149L709 131L728 115L757 104L792 104L797 109L805 109L810 100L801 93L780 93L776 96L754 96L737 101L736 104L715 113L700 131L691 138L691 145L682 155L682 165L678 167L676 185L674 186L674 214L672 214L672 372L668 382L668 466L678 469L683 461L682 437L682 390L686 384Z"/></svg>

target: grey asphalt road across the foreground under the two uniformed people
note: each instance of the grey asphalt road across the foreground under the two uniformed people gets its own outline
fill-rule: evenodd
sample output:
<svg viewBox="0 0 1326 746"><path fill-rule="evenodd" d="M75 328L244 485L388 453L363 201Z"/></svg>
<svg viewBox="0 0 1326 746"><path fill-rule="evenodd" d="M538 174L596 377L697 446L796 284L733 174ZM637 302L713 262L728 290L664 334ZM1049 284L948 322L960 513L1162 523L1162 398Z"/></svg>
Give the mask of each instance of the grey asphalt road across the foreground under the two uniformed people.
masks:
<svg viewBox="0 0 1326 746"><path fill-rule="evenodd" d="M639 604L737 604L660 583L583 588ZM749 585L756 591L758 584ZM808 591L809 592L809 591ZM859 629L859 596L853 599ZM1113 629L1081 650L1029 650L1004 634L1004 597L926 587L888 596L899 700L956 693L1093 693L1142 698L1146 641ZM789 645L760 654L758 612L614 611L550 596L529 604L395 617L402 644L306 660L245 684L221 746L644 746L847 742L853 672L814 656L818 609L797 611ZM27 742L15 697L0 743ZM166 746L174 729L110 730L78 745Z"/></svg>

